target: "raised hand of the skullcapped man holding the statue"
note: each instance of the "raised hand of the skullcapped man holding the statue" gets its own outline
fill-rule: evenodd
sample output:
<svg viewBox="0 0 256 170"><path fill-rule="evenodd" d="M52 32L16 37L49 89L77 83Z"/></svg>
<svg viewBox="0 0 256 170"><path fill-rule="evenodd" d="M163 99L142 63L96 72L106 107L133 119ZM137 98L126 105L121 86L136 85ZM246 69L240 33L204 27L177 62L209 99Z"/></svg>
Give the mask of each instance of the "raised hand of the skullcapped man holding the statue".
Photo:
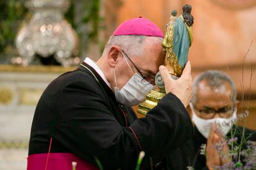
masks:
<svg viewBox="0 0 256 170"><path fill-rule="evenodd" d="M188 61L186 63L181 78L179 79L171 78L169 71L163 65L159 67L159 70L164 81L166 94L172 92L177 96L177 98L179 98L179 100L181 100L184 107L187 107L187 105L189 105L190 99L192 98L192 77L190 62Z"/></svg>

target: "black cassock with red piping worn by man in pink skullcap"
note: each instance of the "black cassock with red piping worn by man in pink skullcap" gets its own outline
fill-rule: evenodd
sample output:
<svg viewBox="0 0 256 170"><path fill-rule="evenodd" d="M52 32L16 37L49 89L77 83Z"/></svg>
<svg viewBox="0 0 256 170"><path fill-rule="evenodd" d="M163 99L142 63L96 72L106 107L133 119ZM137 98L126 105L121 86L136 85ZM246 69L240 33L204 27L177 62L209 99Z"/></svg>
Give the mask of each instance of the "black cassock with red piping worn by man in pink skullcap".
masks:
<svg viewBox="0 0 256 170"><path fill-rule="evenodd" d="M74 153L104 169L135 169L141 150L143 169L165 160L192 137L186 108L173 94L137 119L132 108L119 105L113 91L87 63L54 79L36 106L28 155ZM150 159L151 158L151 159Z"/></svg>

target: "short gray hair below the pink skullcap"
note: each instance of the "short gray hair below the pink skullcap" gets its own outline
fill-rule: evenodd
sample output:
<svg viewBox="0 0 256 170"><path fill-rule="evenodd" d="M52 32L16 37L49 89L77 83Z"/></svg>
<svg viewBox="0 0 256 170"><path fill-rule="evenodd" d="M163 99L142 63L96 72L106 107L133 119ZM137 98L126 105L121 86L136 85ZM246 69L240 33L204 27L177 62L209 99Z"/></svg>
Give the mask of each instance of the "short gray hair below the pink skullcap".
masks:
<svg viewBox="0 0 256 170"><path fill-rule="evenodd" d="M127 55L143 55L143 41L147 36L142 35L121 35L110 36L108 43L103 51L103 56L108 54L111 46L116 45L121 47ZM153 37L153 36L152 36ZM153 37L152 41L162 41L163 38Z"/></svg>

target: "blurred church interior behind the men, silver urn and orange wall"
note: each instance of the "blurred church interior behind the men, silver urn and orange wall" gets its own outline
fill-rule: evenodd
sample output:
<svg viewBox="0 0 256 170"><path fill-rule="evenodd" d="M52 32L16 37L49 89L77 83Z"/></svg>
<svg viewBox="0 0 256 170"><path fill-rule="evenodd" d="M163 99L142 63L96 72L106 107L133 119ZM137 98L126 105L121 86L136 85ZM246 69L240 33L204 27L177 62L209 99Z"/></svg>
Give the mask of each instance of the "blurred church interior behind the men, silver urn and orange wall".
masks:
<svg viewBox="0 0 256 170"><path fill-rule="evenodd" d="M98 60L117 25L145 17L165 32L171 10L192 5L192 76L221 70L237 87L238 110L256 130L255 0L1 0L0 169L25 169L36 103L57 76ZM134 107L136 110L137 107ZM141 117L142 115L139 115Z"/></svg>

